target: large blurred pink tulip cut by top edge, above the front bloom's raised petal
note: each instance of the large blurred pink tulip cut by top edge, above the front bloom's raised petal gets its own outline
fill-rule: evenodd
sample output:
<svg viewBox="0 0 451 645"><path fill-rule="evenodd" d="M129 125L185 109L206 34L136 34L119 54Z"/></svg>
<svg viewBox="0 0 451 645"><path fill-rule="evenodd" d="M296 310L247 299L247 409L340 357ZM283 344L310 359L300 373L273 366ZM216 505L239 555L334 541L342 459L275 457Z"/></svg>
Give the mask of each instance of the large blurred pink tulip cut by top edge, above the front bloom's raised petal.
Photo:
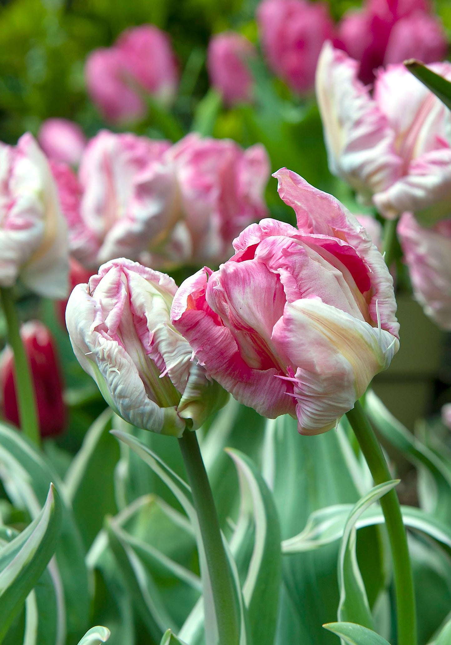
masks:
<svg viewBox="0 0 451 645"><path fill-rule="evenodd" d="M295 92L310 92L321 47L334 34L328 6L306 0L263 0L257 8L257 23L274 74Z"/></svg>

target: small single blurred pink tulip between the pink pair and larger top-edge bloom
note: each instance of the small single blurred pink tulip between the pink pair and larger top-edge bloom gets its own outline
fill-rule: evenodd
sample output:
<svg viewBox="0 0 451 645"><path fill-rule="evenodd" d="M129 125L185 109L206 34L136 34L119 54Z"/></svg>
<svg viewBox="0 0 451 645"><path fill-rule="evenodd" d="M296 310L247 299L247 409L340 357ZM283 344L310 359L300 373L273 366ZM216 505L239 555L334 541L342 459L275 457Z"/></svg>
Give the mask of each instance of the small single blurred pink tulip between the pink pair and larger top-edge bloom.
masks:
<svg viewBox="0 0 451 645"><path fill-rule="evenodd" d="M241 34L224 32L210 40L208 73L212 86L222 95L226 105L252 100L253 81L248 61L255 56L254 45Z"/></svg>

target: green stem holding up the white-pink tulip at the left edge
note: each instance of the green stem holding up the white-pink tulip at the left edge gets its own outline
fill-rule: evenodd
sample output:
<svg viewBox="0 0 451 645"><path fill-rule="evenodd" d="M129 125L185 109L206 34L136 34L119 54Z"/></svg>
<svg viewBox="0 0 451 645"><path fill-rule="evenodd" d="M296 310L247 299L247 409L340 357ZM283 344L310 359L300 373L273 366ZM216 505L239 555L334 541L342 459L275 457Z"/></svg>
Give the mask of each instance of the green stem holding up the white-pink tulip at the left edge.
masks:
<svg viewBox="0 0 451 645"><path fill-rule="evenodd" d="M5 313L8 340L14 353L14 383L21 428L36 446L41 443L37 423L37 405L30 364L19 333L19 320L15 311L14 296L11 288L0 288L1 303Z"/></svg>

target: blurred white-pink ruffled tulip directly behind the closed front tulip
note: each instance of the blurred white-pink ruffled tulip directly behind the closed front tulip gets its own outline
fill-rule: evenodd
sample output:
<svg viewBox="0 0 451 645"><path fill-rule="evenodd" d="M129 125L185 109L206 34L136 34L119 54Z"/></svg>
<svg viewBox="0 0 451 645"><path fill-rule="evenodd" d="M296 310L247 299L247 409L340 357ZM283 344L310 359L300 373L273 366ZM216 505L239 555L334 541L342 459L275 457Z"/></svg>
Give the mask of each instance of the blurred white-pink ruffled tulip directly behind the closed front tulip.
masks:
<svg viewBox="0 0 451 645"><path fill-rule="evenodd" d="M78 179L68 166L53 165L70 252L83 266L137 259L176 217L174 173L161 164L169 146L105 130L88 143Z"/></svg>

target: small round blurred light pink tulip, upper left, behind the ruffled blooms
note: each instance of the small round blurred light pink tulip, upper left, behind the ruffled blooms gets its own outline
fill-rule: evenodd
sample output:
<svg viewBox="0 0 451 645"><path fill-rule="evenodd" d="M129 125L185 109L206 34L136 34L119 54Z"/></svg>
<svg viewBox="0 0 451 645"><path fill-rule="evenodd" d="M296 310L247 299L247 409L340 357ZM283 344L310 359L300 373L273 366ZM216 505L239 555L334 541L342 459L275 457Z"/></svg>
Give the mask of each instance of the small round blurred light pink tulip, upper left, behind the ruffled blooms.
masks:
<svg viewBox="0 0 451 645"><path fill-rule="evenodd" d="M83 130L68 119L46 119L37 140L47 157L71 166L77 166L86 146Z"/></svg>

